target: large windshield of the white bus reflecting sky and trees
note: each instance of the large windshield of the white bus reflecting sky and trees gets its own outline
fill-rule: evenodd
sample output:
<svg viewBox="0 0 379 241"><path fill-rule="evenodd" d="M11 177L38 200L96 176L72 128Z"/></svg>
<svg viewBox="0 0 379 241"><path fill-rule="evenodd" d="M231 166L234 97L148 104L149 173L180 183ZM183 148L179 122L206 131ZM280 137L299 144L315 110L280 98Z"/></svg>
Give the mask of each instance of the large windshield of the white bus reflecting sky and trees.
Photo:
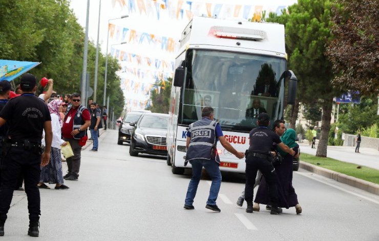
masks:
<svg viewBox="0 0 379 241"><path fill-rule="evenodd" d="M224 130L249 132L260 113L271 123L283 117L286 60L271 56L188 50L179 124L201 119L204 106Z"/></svg>

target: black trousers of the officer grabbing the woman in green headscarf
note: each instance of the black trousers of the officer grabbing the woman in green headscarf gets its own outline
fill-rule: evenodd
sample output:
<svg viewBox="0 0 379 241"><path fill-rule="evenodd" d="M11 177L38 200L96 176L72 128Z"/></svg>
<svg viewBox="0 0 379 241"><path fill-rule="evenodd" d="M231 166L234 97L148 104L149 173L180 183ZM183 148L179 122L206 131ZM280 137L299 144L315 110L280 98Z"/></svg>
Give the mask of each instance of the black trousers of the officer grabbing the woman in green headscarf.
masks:
<svg viewBox="0 0 379 241"><path fill-rule="evenodd" d="M275 168L267 159L251 156L247 156L246 158L246 202L250 202L252 204L252 199L254 197L254 184L258 170L262 172L262 175L268 184L271 206L278 207L278 187Z"/></svg>

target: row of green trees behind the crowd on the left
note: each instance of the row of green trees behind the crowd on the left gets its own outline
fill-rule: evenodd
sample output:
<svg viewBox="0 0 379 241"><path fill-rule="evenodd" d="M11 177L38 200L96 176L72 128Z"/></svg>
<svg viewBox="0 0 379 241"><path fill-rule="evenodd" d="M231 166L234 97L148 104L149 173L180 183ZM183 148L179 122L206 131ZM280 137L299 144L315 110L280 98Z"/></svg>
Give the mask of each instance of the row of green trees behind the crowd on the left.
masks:
<svg viewBox="0 0 379 241"><path fill-rule="evenodd" d="M41 62L30 73L37 78L54 79L58 94L80 93L80 76L85 33L70 10L68 0L0 0L0 58ZM90 86L94 86L95 52L89 42L87 70ZM102 105L104 66L106 56L99 54L97 102ZM116 75L119 65L109 56L107 95L110 110L120 115L124 97L120 79ZM19 83L19 79L13 81ZM37 94L42 92L38 89Z"/></svg>

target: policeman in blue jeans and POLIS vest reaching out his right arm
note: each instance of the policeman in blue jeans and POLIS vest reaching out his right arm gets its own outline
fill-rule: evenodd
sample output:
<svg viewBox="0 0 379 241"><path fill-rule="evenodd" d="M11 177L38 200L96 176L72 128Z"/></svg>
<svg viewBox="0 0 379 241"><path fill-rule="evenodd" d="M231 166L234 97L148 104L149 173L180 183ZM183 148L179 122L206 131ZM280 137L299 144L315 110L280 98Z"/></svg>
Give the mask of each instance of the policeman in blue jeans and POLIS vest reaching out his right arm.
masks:
<svg viewBox="0 0 379 241"><path fill-rule="evenodd" d="M237 158L242 159L245 155L237 151L224 138L220 124L213 120L213 108L204 107L201 112L202 119L189 125L187 132L187 153L185 163L192 165L192 178L189 181L187 195L185 197L184 208L195 209L193 206L197 186L201 178L201 170L204 167L209 177L212 179L208 201L205 208L215 212L221 212L216 205L216 199L221 186L220 159L217 154L217 141L234 154Z"/></svg>

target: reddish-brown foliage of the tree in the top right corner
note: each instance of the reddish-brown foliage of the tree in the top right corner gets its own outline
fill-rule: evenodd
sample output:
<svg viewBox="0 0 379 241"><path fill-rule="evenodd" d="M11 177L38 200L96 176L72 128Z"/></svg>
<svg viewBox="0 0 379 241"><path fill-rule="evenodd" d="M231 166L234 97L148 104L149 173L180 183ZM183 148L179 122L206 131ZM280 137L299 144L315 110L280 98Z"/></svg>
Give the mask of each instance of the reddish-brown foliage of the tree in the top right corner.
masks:
<svg viewBox="0 0 379 241"><path fill-rule="evenodd" d="M379 1L334 0L327 54L342 91L379 93Z"/></svg>

